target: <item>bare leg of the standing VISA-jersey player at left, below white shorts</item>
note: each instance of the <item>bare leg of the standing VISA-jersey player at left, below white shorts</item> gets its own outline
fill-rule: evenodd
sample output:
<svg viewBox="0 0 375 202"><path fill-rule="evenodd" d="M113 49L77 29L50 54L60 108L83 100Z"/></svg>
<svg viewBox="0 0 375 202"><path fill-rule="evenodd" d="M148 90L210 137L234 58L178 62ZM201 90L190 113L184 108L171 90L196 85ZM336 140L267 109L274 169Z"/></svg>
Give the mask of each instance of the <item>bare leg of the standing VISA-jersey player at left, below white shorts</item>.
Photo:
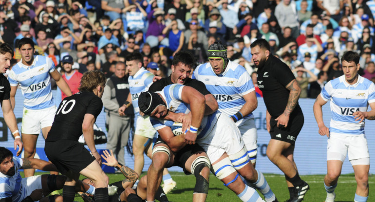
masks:
<svg viewBox="0 0 375 202"><path fill-rule="evenodd" d="M24 134L22 133L24 158L34 158L37 152L38 134ZM24 169L25 177L34 176L35 169Z"/></svg>

